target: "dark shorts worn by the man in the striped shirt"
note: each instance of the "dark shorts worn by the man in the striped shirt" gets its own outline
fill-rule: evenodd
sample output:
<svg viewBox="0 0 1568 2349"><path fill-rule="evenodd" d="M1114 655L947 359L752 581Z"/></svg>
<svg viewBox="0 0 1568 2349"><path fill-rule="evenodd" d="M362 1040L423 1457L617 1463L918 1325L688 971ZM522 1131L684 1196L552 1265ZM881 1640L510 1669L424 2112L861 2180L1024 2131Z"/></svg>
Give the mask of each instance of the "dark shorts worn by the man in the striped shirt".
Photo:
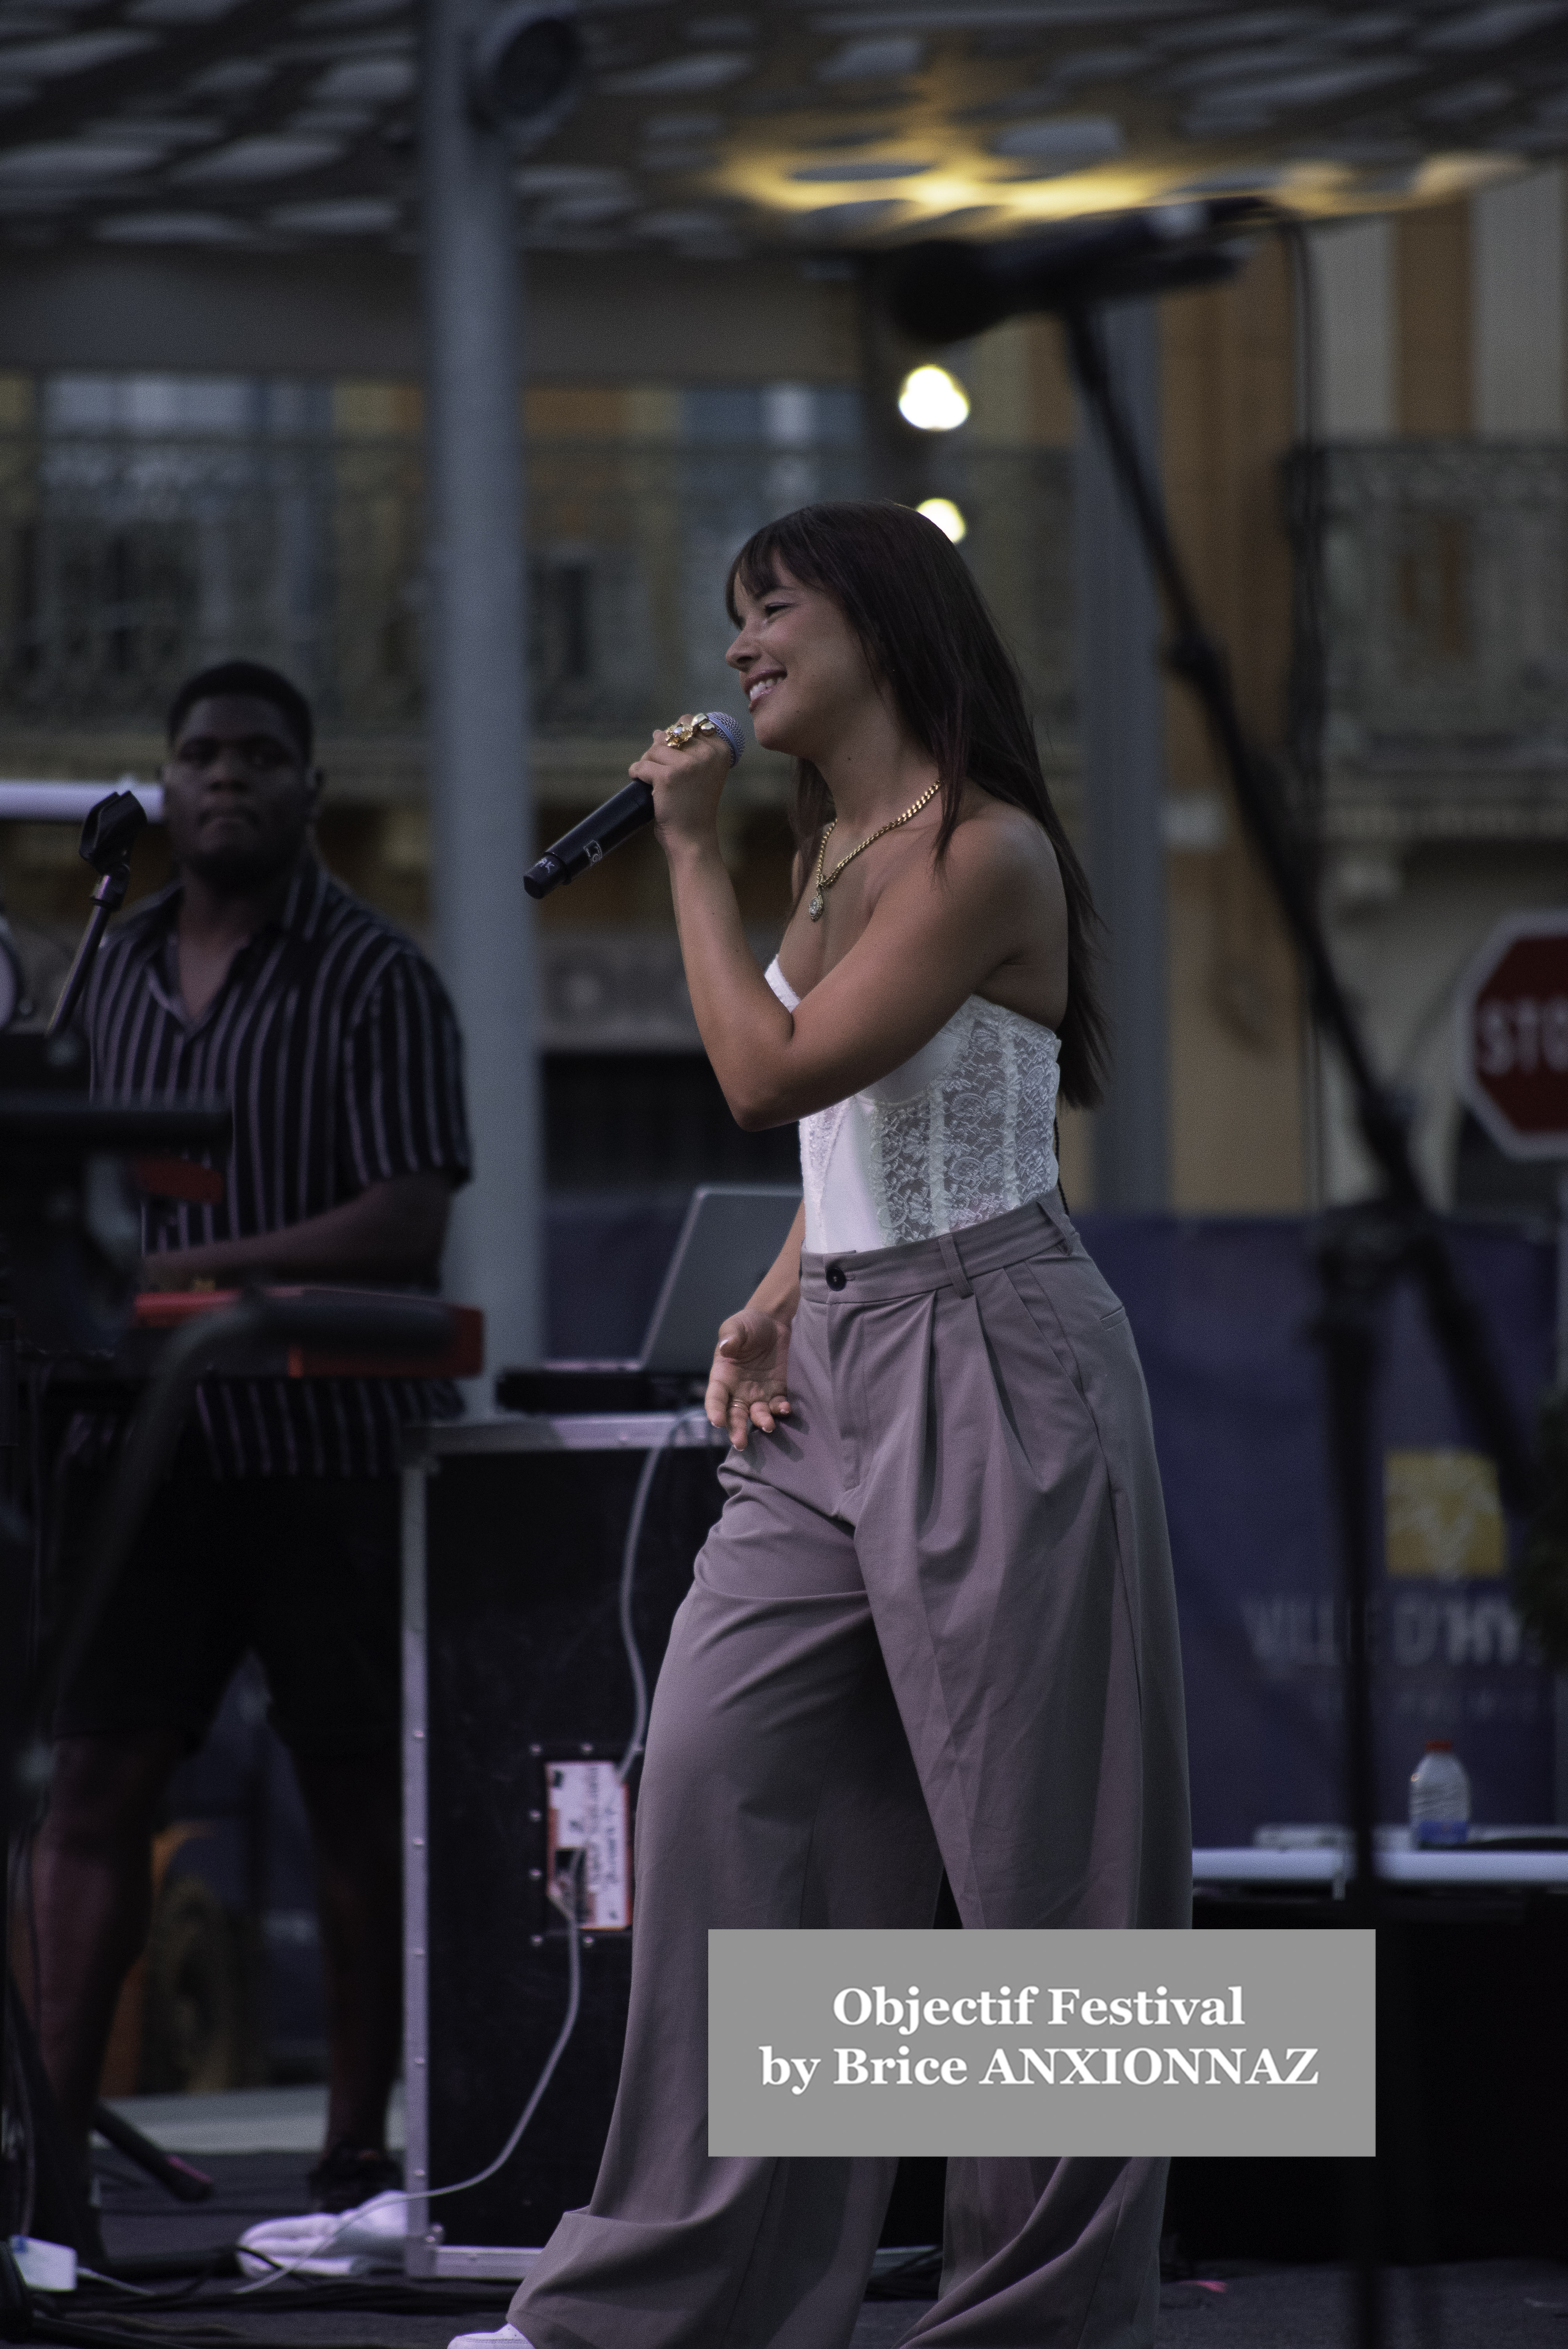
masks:
<svg viewBox="0 0 1568 2349"><path fill-rule="evenodd" d="M101 1494L103 1478L73 1480L56 1590L80 1586ZM54 1734L176 1729L195 1750L254 1649L272 1727L296 1755L394 1745L397 1536L397 1478L171 1478L61 1694Z"/></svg>

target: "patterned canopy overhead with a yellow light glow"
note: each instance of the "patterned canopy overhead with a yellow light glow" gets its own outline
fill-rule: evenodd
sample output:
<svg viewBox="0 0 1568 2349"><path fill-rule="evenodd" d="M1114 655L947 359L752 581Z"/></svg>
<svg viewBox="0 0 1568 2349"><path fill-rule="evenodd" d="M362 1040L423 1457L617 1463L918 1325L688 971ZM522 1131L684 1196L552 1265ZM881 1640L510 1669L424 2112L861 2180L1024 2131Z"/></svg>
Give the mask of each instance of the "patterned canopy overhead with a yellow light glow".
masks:
<svg viewBox="0 0 1568 2349"><path fill-rule="evenodd" d="M580 23L589 101L519 176L538 244L993 237L1190 188L1317 216L1568 148L1568 0L592 0ZM415 40L415 0L0 0L5 216L401 240Z"/></svg>

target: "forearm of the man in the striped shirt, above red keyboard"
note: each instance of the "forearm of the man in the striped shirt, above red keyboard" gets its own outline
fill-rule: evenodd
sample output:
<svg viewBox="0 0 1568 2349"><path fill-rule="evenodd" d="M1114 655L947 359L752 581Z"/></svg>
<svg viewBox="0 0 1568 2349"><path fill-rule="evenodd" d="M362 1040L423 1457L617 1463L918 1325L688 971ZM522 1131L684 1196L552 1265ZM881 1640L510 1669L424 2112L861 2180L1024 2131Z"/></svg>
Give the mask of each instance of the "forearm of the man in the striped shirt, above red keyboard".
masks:
<svg viewBox="0 0 1568 2349"><path fill-rule="evenodd" d="M256 1273L350 1280L425 1280L441 1261L451 1182L446 1174L392 1174L359 1198L307 1214L282 1231L207 1247L171 1247L141 1259L143 1290L183 1290L192 1280L242 1283Z"/></svg>

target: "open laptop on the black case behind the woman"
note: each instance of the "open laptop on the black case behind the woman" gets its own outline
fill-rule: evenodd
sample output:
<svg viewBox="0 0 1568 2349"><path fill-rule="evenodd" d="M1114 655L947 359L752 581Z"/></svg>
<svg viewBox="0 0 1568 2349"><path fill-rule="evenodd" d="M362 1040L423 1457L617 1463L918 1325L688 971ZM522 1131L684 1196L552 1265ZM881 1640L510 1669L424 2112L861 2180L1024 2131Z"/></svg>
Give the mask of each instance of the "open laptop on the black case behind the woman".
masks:
<svg viewBox="0 0 1568 2349"><path fill-rule="evenodd" d="M751 1297L800 1207L791 1184L704 1182L692 1191L669 1271L631 1362L502 1369L502 1412L638 1412L702 1393L718 1322Z"/></svg>

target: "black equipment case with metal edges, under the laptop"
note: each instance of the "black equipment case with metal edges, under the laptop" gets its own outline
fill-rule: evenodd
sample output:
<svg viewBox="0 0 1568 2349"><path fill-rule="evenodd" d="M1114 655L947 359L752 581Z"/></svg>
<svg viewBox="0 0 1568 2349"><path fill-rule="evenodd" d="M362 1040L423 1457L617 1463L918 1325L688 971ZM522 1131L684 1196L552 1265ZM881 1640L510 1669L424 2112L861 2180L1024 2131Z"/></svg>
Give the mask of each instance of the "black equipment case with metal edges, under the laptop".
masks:
<svg viewBox="0 0 1568 2349"><path fill-rule="evenodd" d="M584 1926L577 2027L521 2145L486 2185L439 2192L502 2149L566 2015L549 1773L601 1762L606 1790L631 1734L620 1583L650 1447L631 1623L653 1687L723 1506L699 1414L427 1428L404 1470L408 2187L434 2196L408 2213L411 2274L521 2274L594 2187L631 1936Z"/></svg>

